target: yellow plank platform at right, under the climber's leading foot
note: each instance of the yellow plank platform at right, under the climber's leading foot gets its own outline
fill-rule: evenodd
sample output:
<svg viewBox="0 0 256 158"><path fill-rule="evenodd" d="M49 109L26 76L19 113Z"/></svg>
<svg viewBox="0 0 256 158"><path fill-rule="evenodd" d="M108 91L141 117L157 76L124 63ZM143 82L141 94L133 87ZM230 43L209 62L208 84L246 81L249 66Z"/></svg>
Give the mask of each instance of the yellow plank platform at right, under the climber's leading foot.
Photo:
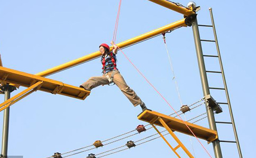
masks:
<svg viewBox="0 0 256 158"><path fill-rule="evenodd" d="M164 115L158 112L154 112L154 111L149 111L149 110L145 110L144 112L142 112L138 118L139 120L148 122L148 123L152 123L154 125L158 125L163 127L163 125L160 123L160 121L158 120L158 118L161 117L162 120L169 126L169 128L172 131L177 131L177 132L181 132L184 134L188 134L191 136L194 136L188 129L188 127L186 126L186 124L189 126L189 128L191 129L191 131L194 132L194 134L203 140L208 141L208 143L214 141L217 139L217 132L211 129L207 129L205 127L196 125L196 124L192 124L189 122L186 122L186 124L184 124L182 122L182 120L179 120L178 118L175 117L171 117L168 115Z"/></svg>

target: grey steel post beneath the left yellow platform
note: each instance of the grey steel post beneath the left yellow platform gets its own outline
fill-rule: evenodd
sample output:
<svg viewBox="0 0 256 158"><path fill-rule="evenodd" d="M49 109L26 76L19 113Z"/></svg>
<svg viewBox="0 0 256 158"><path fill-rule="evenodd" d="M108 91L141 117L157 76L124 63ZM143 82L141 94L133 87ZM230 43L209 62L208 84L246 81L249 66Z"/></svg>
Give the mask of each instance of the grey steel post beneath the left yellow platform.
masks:
<svg viewBox="0 0 256 158"><path fill-rule="evenodd" d="M11 96L11 91L9 85L6 85L5 98L8 100ZM4 123L3 123L3 137L2 137L2 154L7 157L8 150L8 134L9 134L9 117L10 117L10 107L4 110Z"/></svg>

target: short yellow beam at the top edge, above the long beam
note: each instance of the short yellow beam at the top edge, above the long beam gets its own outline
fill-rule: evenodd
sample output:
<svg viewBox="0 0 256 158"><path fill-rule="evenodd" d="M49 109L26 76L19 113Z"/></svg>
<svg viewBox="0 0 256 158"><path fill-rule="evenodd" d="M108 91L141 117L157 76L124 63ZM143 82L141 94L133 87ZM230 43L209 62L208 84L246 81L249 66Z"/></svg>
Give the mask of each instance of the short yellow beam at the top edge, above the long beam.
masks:
<svg viewBox="0 0 256 158"><path fill-rule="evenodd" d="M172 3L166 0L149 0L149 1L157 3L161 6L167 7L169 9L172 9L173 11L181 13L186 16L195 14L195 12L193 12L193 9L188 9L186 7L178 6L175 3Z"/></svg>

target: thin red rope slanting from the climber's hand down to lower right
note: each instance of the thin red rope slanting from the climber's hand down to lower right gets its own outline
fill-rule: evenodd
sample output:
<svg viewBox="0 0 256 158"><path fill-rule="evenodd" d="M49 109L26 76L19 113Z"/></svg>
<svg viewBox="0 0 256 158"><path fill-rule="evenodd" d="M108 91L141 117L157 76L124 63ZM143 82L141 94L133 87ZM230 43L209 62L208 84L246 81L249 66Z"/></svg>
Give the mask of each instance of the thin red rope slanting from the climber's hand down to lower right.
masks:
<svg viewBox="0 0 256 158"><path fill-rule="evenodd" d="M141 74L141 76L153 87L153 89L163 98L163 100L172 108L172 110L179 116L180 120L188 127L189 131L195 136L195 138L197 139L197 141L200 143L200 145L204 148L204 150L206 151L206 153L209 155L209 157L212 158L212 156L209 154L209 152L206 150L206 148L204 147L204 145L200 142L200 140L197 138L197 136L194 134L194 132L190 129L190 127L187 125L187 123L182 120L182 118L180 117L180 115L175 111L175 109L171 106L171 104L166 100L166 98L164 98L162 96L162 94L157 90L156 87L154 87L149 80L140 72L140 70L132 63L132 61L129 59L129 57L127 57L124 52L121 50L120 47L118 47L118 49L123 53L123 55L127 58L127 60L132 64L132 66Z"/></svg>

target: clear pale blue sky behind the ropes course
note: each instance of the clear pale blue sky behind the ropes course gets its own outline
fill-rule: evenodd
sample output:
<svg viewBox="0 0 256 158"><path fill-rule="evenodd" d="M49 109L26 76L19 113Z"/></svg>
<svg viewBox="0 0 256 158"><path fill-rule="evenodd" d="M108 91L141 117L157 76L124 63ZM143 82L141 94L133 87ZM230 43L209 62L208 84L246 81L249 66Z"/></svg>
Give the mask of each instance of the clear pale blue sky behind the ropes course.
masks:
<svg viewBox="0 0 256 158"><path fill-rule="evenodd" d="M98 50L100 43L113 37L119 1L0 1L0 53L3 65L35 74L48 68L75 60ZM186 5L188 1L179 1ZM244 157L253 157L256 132L254 123L255 99L255 20L254 1L196 1L201 6L199 24L211 24L208 8L213 8L217 36L223 58L227 86L235 123ZM146 0L123 0L117 41L122 42L158 27L178 21L182 15ZM213 39L211 28L200 29L200 36ZM195 45L191 27L167 35L167 45L180 88L182 102L192 104L203 97ZM205 54L215 54L214 44L203 44ZM124 52L141 72L179 110L180 103L168 63L162 38L126 48ZM117 66L127 84L154 111L171 114L173 111L144 81L120 52ZM218 70L218 62L207 60L208 70ZM101 75L99 59L48 76L63 83L79 86L90 76ZM210 86L222 86L220 76L208 76ZM14 96L24 90L21 87ZM217 101L224 102L224 93L212 92ZM1 95L2 102L4 96ZM227 108L215 115L217 121L229 121ZM133 107L114 86L99 86L85 101L35 92L11 106L8 155L48 157L54 152L65 153L134 130L139 121L140 107ZM205 112L200 106L186 114L187 119ZM182 116L184 117L184 116ZM3 118L3 112L0 113ZM208 127L207 119L197 124ZM2 127L2 121L0 121ZM219 125L221 140L234 140L230 125ZM153 129L97 150L71 157L86 157L122 146L156 133ZM1 134L1 133L0 133ZM177 133L193 153L189 137ZM201 140L214 156L212 144ZM175 144L170 140L172 144ZM196 157L207 157L200 144L192 138ZM224 157L239 157L234 144L221 144ZM64 155L63 155L64 156ZM107 157L175 157L157 139L130 150Z"/></svg>

